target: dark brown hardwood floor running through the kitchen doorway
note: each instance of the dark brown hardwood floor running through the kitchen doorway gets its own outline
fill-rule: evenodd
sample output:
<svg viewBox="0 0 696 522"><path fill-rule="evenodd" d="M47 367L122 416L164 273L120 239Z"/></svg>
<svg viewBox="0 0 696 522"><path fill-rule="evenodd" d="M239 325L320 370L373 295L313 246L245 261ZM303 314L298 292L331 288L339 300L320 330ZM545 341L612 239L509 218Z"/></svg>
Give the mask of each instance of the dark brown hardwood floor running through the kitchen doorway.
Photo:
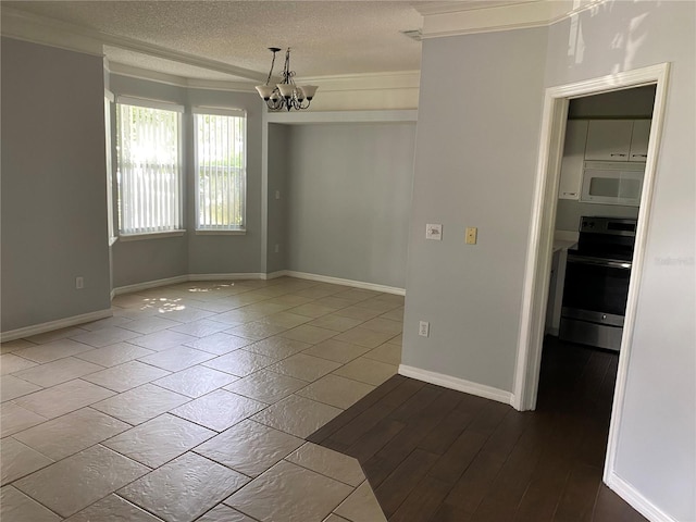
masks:
<svg viewBox="0 0 696 522"><path fill-rule="evenodd" d="M644 521L601 483L618 356L545 341L537 410L393 377L309 439L357 458L389 521Z"/></svg>

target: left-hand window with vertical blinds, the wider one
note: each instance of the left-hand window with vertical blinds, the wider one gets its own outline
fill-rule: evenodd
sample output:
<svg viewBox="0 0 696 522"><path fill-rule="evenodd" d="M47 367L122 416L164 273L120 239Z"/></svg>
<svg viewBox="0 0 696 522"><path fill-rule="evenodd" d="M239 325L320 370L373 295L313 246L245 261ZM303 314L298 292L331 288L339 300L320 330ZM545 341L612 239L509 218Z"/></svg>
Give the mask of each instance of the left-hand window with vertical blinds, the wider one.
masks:
<svg viewBox="0 0 696 522"><path fill-rule="evenodd" d="M181 229L181 111L177 105L116 105L121 234ZM164 105L161 103L160 105Z"/></svg>

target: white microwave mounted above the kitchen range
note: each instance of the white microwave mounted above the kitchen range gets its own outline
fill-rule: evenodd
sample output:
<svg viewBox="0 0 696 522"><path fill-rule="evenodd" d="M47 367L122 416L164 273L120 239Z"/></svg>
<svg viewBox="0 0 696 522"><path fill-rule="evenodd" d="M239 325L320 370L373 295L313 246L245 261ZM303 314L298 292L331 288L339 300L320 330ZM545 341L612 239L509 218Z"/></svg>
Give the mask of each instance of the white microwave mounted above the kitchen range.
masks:
<svg viewBox="0 0 696 522"><path fill-rule="evenodd" d="M638 207L645 163L586 161L580 200L586 203Z"/></svg>

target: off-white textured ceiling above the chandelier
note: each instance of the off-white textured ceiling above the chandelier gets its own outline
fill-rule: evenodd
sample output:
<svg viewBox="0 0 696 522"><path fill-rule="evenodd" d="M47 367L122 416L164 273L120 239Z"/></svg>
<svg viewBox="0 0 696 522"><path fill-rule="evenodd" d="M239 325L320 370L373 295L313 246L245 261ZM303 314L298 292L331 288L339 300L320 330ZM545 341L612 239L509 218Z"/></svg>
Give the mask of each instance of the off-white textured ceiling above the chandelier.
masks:
<svg viewBox="0 0 696 522"><path fill-rule="evenodd" d="M269 47L291 47L298 78L417 71L422 16L405 1L3 1L4 7L266 74ZM107 57L185 77L237 79L117 48ZM276 60L276 73L282 66ZM278 64L278 62L281 62Z"/></svg>

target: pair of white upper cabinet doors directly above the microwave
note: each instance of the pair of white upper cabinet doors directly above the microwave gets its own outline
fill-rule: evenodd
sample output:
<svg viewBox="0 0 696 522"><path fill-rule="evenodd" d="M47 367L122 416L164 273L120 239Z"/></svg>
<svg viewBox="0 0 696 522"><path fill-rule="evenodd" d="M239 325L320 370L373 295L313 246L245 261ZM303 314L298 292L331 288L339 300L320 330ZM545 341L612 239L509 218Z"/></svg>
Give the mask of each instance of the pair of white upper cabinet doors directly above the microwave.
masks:
<svg viewBox="0 0 696 522"><path fill-rule="evenodd" d="M649 136L650 120L591 120L585 160L645 162Z"/></svg>

